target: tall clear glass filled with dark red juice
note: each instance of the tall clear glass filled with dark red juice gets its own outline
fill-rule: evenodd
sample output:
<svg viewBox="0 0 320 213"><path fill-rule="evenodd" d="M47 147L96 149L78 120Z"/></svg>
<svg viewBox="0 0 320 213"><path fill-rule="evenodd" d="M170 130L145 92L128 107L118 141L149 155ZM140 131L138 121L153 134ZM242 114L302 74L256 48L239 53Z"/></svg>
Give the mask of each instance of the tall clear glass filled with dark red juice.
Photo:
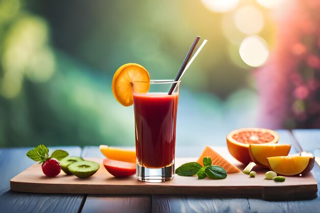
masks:
<svg viewBox="0 0 320 213"><path fill-rule="evenodd" d="M174 88L173 92L168 94L171 87ZM174 176L179 87L180 81L150 80L147 93L133 90L138 180L163 182Z"/></svg>

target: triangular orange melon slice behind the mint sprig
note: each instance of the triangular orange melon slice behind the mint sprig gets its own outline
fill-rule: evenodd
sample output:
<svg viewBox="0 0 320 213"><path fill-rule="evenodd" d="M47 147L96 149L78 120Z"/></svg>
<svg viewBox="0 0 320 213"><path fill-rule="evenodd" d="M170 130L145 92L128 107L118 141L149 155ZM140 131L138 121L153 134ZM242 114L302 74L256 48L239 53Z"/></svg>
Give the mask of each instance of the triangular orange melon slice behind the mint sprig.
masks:
<svg viewBox="0 0 320 213"><path fill-rule="evenodd" d="M237 167L235 167L231 162L224 159L221 155L219 155L216 151L214 151L209 146L205 147L199 159L197 160L197 162L200 163L202 167L203 167L203 162L202 162L203 157L210 157L213 165L218 165L219 167L222 167L223 169L225 169L227 173L240 172L240 170Z"/></svg>

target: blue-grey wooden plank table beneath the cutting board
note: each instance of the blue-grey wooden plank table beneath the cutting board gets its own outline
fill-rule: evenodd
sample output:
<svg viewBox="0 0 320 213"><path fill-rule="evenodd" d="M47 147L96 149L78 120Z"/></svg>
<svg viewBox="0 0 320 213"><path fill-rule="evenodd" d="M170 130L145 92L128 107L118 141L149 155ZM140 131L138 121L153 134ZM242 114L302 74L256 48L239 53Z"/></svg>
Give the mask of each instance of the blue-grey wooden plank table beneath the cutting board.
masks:
<svg viewBox="0 0 320 213"><path fill-rule="evenodd" d="M279 143L292 144L291 153L308 151L320 156L320 129L278 130ZM210 144L209 144L210 145ZM204 146L177 147L177 157L197 157ZM187 195L70 195L33 194L10 191L10 179L34 161L26 157L30 148L0 148L0 212L320 212L320 196L304 201L217 198ZM53 147L70 155L103 157L98 147ZM320 168L312 171L320 181Z"/></svg>

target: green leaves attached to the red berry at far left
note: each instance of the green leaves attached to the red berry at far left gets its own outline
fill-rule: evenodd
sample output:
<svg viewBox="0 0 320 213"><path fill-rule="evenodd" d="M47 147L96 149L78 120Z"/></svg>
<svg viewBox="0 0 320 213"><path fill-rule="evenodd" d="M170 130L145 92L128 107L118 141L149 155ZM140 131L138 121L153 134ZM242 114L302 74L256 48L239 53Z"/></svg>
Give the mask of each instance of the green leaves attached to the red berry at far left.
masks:
<svg viewBox="0 0 320 213"><path fill-rule="evenodd" d="M62 158L68 155L69 154L64 150L55 150L49 157L49 149L43 144L40 144L34 149L27 152L27 156L30 159L39 161L39 163L45 162L50 158L56 158L57 160L61 160Z"/></svg>

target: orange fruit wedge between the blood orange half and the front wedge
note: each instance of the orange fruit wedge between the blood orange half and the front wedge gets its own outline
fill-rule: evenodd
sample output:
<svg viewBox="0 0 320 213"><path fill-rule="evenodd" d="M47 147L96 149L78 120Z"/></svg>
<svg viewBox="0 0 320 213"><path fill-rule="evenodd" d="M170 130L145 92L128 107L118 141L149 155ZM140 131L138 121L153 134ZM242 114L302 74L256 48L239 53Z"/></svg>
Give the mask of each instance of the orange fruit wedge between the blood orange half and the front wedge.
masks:
<svg viewBox="0 0 320 213"><path fill-rule="evenodd" d="M249 154L251 159L261 167L268 167L267 157L287 156L291 144L250 144Z"/></svg>

